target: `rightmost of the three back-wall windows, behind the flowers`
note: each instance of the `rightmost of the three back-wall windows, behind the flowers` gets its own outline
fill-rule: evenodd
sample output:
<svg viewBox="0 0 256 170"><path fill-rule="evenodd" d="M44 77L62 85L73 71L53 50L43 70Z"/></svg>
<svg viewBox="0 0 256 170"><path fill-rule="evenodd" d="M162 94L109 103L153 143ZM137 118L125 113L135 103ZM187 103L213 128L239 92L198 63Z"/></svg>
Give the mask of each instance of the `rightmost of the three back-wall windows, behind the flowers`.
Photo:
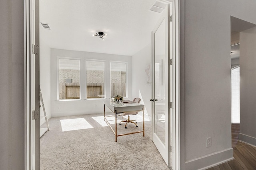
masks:
<svg viewBox="0 0 256 170"><path fill-rule="evenodd" d="M126 63L110 63L110 96L127 97Z"/></svg>

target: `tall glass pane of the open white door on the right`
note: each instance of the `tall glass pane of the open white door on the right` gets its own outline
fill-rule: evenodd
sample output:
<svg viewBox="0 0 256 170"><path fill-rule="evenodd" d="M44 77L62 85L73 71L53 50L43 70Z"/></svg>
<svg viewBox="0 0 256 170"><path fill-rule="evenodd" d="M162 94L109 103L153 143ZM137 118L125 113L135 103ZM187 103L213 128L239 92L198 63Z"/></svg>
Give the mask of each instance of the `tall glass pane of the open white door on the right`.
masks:
<svg viewBox="0 0 256 170"><path fill-rule="evenodd" d="M165 24L164 22L158 27L155 33L155 128L154 133L165 145L166 141L166 85L165 85Z"/></svg>

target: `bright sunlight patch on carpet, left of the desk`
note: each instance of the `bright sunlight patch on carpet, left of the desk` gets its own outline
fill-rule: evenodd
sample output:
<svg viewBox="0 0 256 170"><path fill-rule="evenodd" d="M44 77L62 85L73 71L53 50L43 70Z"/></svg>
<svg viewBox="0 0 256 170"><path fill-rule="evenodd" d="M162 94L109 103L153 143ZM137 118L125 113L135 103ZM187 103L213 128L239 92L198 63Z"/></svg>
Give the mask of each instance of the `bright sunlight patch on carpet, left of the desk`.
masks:
<svg viewBox="0 0 256 170"><path fill-rule="evenodd" d="M84 118L60 120L62 132L93 128Z"/></svg>

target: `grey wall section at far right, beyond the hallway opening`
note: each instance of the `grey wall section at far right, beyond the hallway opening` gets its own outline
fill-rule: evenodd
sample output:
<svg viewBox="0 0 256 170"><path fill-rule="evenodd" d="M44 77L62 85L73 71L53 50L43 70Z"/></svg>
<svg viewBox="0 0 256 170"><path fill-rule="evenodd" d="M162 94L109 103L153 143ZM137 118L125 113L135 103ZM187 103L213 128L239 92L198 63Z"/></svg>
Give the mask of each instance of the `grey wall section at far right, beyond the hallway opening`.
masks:
<svg viewBox="0 0 256 170"><path fill-rule="evenodd" d="M256 146L256 27L240 32L239 140Z"/></svg>

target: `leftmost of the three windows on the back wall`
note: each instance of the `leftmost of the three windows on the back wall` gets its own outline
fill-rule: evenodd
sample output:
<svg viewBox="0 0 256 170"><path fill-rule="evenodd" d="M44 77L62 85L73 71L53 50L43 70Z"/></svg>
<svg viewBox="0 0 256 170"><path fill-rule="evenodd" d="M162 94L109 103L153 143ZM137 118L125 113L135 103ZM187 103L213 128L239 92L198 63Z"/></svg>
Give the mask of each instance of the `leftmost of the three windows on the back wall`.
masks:
<svg viewBox="0 0 256 170"><path fill-rule="evenodd" d="M59 59L59 100L80 99L80 61Z"/></svg>

